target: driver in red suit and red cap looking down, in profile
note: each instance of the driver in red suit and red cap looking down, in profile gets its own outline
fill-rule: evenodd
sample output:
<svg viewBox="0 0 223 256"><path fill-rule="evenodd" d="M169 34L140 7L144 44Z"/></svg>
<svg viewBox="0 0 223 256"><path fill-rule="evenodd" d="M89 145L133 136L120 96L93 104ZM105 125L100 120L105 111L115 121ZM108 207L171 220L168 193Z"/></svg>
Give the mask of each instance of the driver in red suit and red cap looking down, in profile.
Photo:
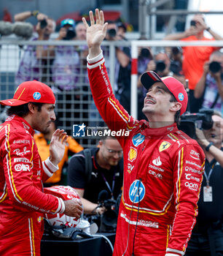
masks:
<svg viewBox="0 0 223 256"><path fill-rule="evenodd" d="M12 99L0 103L9 106L9 117L0 126L0 252L39 256L44 214L82 214L78 201L42 192L42 182L58 170L67 135L63 129L54 132L50 157L42 162L34 129L45 132L55 120L55 96L44 83L21 83Z"/></svg>

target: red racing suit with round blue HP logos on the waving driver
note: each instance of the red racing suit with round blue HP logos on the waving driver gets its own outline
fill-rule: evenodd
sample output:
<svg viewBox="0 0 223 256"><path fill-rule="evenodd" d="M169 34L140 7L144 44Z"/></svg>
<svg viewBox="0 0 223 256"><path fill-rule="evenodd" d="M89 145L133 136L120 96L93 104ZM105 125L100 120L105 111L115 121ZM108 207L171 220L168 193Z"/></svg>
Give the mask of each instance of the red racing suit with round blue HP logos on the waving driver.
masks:
<svg viewBox="0 0 223 256"><path fill-rule="evenodd" d="M123 148L124 185L114 256L125 250L125 256L132 255L134 239L135 255L184 255L197 216L203 150L176 124L151 129L148 122L129 116L114 97L104 64L88 69L88 75L103 120L111 130L130 132L117 137Z"/></svg>

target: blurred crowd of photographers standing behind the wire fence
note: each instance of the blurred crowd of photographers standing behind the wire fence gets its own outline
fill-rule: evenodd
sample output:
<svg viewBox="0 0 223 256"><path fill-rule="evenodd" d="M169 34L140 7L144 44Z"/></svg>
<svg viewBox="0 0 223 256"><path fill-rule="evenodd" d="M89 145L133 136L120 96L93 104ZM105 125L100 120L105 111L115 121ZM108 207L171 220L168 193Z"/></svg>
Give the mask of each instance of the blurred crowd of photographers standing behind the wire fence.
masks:
<svg viewBox="0 0 223 256"><path fill-rule="evenodd" d="M55 20L38 11L21 12L15 15L15 22L23 22L30 17L36 18L36 37L31 40L78 40L84 42L86 29L82 22L76 23L66 18L58 24L58 37L52 39L55 32ZM107 41L127 41L125 23L108 20ZM211 35L205 37L204 31ZM146 38L140 38L146 39ZM208 25L203 15L195 15L189 29L177 34L168 34L165 40L206 41L221 40ZM109 71L109 48L103 47L106 66ZM26 80L40 80L49 84L58 99L63 99L66 109L76 108L83 111L83 118L93 124L99 118L92 101L89 104L87 94L89 81L86 68L87 45L80 43L73 45L28 45L24 48L23 56L15 76L15 86ZM213 108L222 112L222 52L220 48L211 46L150 48L138 47L138 78L146 70L157 72L160 77L173 76L181 81L189 94L189 107L191 113L197 113L200 108ZM116 47L114 60L114 91L117 99L126 110L130 112L130 75L131 75L131 49L130 47ZM141 99L146 91L138 79L138 119L145 118L141 113ZM63 92L63 97L60 95ZM70 93L71 92L71 93ZM75 102L75 103L74 103ZM86 102L86 104L80 104ZM63 106L64 107L64 106ZM88 109L92 111L88 111ZM93 111L94 110L94 111ZM87 113L90 112L90 113ZM67 118L70 117L66 116ZM101 124L103 122L101 121Z"/></svg>

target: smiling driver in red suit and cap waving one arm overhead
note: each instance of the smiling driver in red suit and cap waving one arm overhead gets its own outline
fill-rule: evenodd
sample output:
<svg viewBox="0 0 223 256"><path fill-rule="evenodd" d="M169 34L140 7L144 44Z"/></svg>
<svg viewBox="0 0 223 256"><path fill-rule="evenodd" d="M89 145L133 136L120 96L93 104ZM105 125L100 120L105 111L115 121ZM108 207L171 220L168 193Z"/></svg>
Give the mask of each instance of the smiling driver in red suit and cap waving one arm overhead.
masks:
<svg viewBox="0 0 223 256"><path fill-rule="evenodd" d="M175 78L148 71L148 90L138 121L114 97L101 51L106 34L103 12L90 11L87 67L95 105L123 149L124 183L114 256L184 255L197 216L205 156L202 148L176 125L187 109L187 92Z"/></svg>

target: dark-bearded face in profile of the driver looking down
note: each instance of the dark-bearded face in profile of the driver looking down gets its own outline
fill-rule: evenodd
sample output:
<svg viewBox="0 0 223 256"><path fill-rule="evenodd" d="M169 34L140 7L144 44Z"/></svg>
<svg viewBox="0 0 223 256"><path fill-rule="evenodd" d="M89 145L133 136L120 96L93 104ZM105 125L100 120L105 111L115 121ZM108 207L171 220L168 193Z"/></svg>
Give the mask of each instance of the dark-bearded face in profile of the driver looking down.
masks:
<svg viewBox="0 0 223 256"><path fill-rule="evenodd" d="M32 116L32 128L44 134L49 132L51 122L55 121L54 109L54 104L43 104L40 111L36 107Z"/></svg>

